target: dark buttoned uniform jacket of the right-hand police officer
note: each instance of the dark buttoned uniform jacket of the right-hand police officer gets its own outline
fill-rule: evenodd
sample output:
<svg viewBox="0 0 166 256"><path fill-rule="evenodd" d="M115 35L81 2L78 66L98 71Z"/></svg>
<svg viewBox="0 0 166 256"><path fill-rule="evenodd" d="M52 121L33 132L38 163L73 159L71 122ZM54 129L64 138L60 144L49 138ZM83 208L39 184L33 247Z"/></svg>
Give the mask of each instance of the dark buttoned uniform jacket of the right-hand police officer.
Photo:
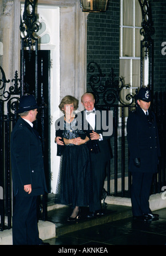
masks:
<svg viewBox="0 0 166 256"><path fill-rule="evenodd" d="M138 106L129 113L127 119L127 140L129 147L130 172L157 172L160 157L157 123L154 113L149 109L148 117ZM134 159L141 160L140 167L134 165Z"/></svg>

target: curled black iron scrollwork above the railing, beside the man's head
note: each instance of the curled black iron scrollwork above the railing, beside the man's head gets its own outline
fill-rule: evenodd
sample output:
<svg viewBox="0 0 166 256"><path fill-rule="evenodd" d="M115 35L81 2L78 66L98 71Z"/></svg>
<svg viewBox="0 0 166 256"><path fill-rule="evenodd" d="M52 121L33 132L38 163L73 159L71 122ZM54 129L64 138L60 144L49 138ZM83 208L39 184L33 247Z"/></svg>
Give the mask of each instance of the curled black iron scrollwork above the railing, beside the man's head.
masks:
<svg viewBox="0 0 166 256"><path fill-rule="evenodd" d="M96 72L97 69L97 72ZM128 85L123 84L123 79L120 77L120 82L115 80L115 73L113 68L111 68L111 72L108 75L108 79L103 82L102 78L106 77L106 74L103 74L100 66L96 62L90 62L87 66L87 71L89 73L94 73L90 76L89 86L95 94L95 102L96 105L100 103L100 95L102 96L102 101L107 107L112 107L115 104L122 104L122 106L131 106L134 102L136 102L136 96L138 90L136 89L136 94L133 96L128 93L126 96L127 103L124 103L120 97L120 93L123 88L129 88Z"/></svg>

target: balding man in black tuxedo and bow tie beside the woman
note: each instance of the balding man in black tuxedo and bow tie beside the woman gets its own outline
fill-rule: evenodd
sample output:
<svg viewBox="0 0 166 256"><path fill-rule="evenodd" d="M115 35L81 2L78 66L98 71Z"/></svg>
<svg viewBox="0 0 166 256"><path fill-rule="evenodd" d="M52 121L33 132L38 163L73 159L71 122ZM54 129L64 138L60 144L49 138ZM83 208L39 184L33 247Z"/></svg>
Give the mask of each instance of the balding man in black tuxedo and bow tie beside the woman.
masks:
<svg viewBox="0 0 166 256"><path fill-rule="evenodd" d="M101 206L101 195L104 180L106 178L106 166L111 159L110 137L112 135L112 118L109 118L108 111L95 109L95 98L92 93L84 93L81 103L85 110L82 111L84 124L88 123L91 164L92 164L92 186L93 203L89 205L90 213L87 217L104 215Z"/></svg>

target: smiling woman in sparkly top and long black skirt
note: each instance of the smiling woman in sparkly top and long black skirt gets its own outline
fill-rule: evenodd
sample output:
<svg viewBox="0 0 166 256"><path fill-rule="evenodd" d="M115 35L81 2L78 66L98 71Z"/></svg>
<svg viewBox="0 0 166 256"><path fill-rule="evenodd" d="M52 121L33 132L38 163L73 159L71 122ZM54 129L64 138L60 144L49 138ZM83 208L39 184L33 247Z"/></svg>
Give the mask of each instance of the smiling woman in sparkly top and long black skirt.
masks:
<svg viewBox="0 0 166 256"><path fill-rule="evenodd" d="M79 219L80 207L88 206L92 200L90 154L86 145L89 138L79 114L74 113L78 102L65 96L59 105L64 116L55 122L57 155L61 156L55 202L71 205L69 221Z"/></svg>

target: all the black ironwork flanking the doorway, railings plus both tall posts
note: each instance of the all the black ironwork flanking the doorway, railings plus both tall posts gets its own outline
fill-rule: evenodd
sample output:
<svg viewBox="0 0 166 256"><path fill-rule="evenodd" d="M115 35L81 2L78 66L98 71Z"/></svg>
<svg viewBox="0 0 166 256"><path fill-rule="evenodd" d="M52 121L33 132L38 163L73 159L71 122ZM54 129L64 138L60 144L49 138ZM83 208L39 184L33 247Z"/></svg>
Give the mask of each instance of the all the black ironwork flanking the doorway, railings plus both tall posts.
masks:
<svg viewBox="0 0 166 256"><path fill-rule="evenodd" d="M152 19L151 11L149 9L148 1L138 0L142 9L142 29L141 33L144 36L143 41L141 42L141 87L142 87L142 77L143 77L143 56L146 57L147 52L149 53L149 86L153 91L153 42L151 35L153 33L152 28ZM6 79L3 69L1 69L2 78L0 79L0 197L4 200L0 200L0 211L1 211L1 230L4 229L5 216L7 217L7 228L11 228L11 217L12 217L12 182L11 182L11 166L9 158L9 142L10 142L10 133L12 128L17 121L17 105L20 96L24 93L30 92L38 99L38 104L40 106L40 117L36 124L37 129L39 130L42 142L43 142L43 152L45 152L45 127L48 126L48 122L45 121L45 99L43 93L43 80L39 82L39 50L38 50L38 38L34 37L34 33L38 31L39 27L37 24L37 18L35 16L35 4L37 0L29 1L25 0L24 6L24 15L23 22L20 24L20 31L22 32L22 48L21 48L21 62L20 62L20 79L18 78L18 72L15 72L15 77L12 79L14 85L8 86L10 82ZM148 17L148 18L147 18ZM34 54L34 63L35 63L35 79L34 86L28 87L26 81L26 63L25 55L28 51L28 58L31 59ZM145 54L144 54L145 53ZM42 63L42 59L41 59ZM126 96L127 104L123 103L120 98L120 92L123 85L121 80L121 86L119 86L119 81L115 81L115 74L113 69L111 70L110 78L103 85L102 78L104 75L101 72L100 67L97 63L89 64L89 71L94 72L95 69L92 67L94 64L97 67L97 76L92 75L90 78L90 86L92 91L96 95L96 103L101 108L113 109L114 113L114 127L115 134L112 138L113 144L113 163L108 164L107 179L110 181L111 175L114 180L114 195L118 195L118 178L120 177L121 182L121 196L129 197L131 177L128 175L128 147L125 136L125 122L126 117L128 116L128 111L131 111L131 108L136 107L135 98L137 95L132 96L128 94ZM43 66L40 67L41 73L43 71ZM29 74L30 75L30 74ZM19 85L20 83L20 85ZM100 102L100 96L102 95L103 106ZM157 114L159 131L160 131L160 142L162 145L162 159L159 164L159 174L154 179L153 184L153 193L159 193L161 186L165 185L165 94L159 96L155 94L153 101L153 110ZM163 109L161 108L163 106ZM126 111L127 109L127 111ZM119 122L121 119L121 125ZM46 125L45 125L46 122ZM120 132L121 136L118 136ZM118 150L120 148L120 150ZM113 170L110 167L113 166ZM48 167L48 166L47 166ZM48 173L47 173L48 175ZM126 182L127 178L127 182ZM127 194L126 186L127 183ZM108 182L108 194L110 192L110 182ZM43 196L43 219L46 219L46 197Z"/></svg>

